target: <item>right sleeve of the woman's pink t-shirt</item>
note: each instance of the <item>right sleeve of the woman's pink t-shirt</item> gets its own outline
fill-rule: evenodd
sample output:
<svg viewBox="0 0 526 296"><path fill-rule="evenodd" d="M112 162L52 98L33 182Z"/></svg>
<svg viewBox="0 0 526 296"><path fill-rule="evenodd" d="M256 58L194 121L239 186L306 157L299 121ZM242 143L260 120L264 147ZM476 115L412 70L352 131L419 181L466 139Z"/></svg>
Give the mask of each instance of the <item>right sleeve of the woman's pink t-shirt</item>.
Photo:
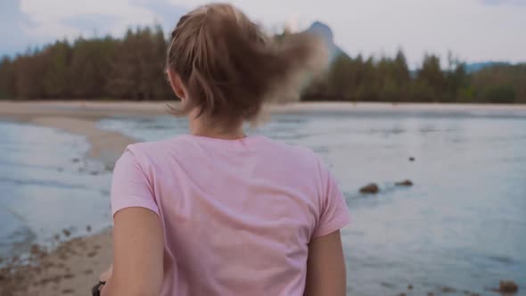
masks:
<svg viewBox="0 0 526 296"><path fill-rule="evenodd" d="M312 238L332 234L334 231L347 226L350 222L349 209L340 187L333 174L325 168L320 160L320 176L322 178L322 201L319 220L312 234Z"/></svg>

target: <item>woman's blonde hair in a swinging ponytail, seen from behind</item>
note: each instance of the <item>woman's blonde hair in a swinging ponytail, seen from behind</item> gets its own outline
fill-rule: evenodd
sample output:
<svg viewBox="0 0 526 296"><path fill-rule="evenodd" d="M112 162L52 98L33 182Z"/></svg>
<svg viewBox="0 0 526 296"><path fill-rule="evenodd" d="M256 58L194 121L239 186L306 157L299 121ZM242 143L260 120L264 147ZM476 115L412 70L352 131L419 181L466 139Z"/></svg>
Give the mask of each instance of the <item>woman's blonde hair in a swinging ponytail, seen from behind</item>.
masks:
<svg viewBox="0 0 526 296"><path fill-rule="evenodd" d="M231 4L200 6L178 21L168 45L167 69L189 93L172 113L197 107L199 116L226 126L254 120L266 101L298 97L306 70L321 70L327 61L314 36L275 42Z"/></svg>

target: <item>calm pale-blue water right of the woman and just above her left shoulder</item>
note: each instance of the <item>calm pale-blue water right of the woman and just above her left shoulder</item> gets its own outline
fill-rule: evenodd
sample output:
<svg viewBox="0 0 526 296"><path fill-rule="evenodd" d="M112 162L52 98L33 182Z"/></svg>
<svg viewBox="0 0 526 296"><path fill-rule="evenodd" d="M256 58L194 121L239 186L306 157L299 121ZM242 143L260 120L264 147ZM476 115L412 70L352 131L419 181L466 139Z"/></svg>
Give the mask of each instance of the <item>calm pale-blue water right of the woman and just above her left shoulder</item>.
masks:
<svg viewBox="0 0 526 296"><path fill-rule="evenodd" d="M144 141L188 128L168 116L100 126ZM330 165L352 216L341 232L349 295L493 295L501 279L526 294L523 111L281 114L251 133L308 146ZM394 185L404 179L415 185ZM370 182L381 193L358 192Z"/></svg>

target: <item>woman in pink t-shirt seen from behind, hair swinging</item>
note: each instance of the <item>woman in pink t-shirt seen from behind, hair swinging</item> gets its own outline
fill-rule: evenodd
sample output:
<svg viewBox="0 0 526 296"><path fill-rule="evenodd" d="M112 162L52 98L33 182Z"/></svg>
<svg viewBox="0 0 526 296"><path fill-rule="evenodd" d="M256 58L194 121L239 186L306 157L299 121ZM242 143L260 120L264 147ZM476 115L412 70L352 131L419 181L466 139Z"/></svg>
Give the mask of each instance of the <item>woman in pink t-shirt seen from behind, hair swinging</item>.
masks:
<svg viewBox="0 0 526 296"><path fill-rule="evenodd" d="M242 128L269 97L294 95L323 47L272 44L228 4L181 18L167 73L190 135L129 145L117 162L103 296L345 295L349 213L333 176L313 152Z"/></svg>

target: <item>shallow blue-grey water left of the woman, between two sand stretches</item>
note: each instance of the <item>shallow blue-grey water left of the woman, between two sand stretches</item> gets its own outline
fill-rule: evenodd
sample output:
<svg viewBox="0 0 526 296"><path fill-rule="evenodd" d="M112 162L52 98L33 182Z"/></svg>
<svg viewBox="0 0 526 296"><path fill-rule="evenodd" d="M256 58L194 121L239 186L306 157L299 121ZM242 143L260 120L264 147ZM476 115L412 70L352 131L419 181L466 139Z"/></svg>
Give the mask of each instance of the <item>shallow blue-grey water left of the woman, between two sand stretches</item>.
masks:
<svg viewBox="0 0 526 296"><path fill-rule="evenodd" d="M83 136L0 122L0 257L111 226L111 174Z"/></svg>

